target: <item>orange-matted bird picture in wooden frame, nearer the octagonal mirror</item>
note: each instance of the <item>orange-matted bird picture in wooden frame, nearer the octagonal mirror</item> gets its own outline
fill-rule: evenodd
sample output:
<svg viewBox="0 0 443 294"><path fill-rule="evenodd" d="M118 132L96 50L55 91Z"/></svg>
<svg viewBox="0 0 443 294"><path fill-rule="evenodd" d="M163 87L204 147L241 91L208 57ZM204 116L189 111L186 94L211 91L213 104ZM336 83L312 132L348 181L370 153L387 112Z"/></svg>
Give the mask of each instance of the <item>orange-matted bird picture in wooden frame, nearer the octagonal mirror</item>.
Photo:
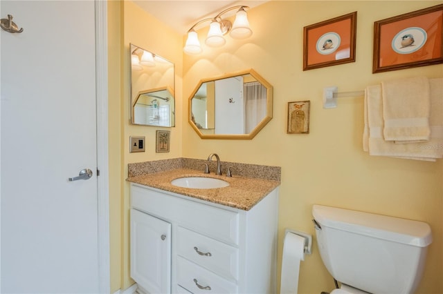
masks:
<svg viewBox="0 0 443 294"><path fill-rule="evenodd" d="M303 70L355 62L357 12L303 28Z"/></svg>

